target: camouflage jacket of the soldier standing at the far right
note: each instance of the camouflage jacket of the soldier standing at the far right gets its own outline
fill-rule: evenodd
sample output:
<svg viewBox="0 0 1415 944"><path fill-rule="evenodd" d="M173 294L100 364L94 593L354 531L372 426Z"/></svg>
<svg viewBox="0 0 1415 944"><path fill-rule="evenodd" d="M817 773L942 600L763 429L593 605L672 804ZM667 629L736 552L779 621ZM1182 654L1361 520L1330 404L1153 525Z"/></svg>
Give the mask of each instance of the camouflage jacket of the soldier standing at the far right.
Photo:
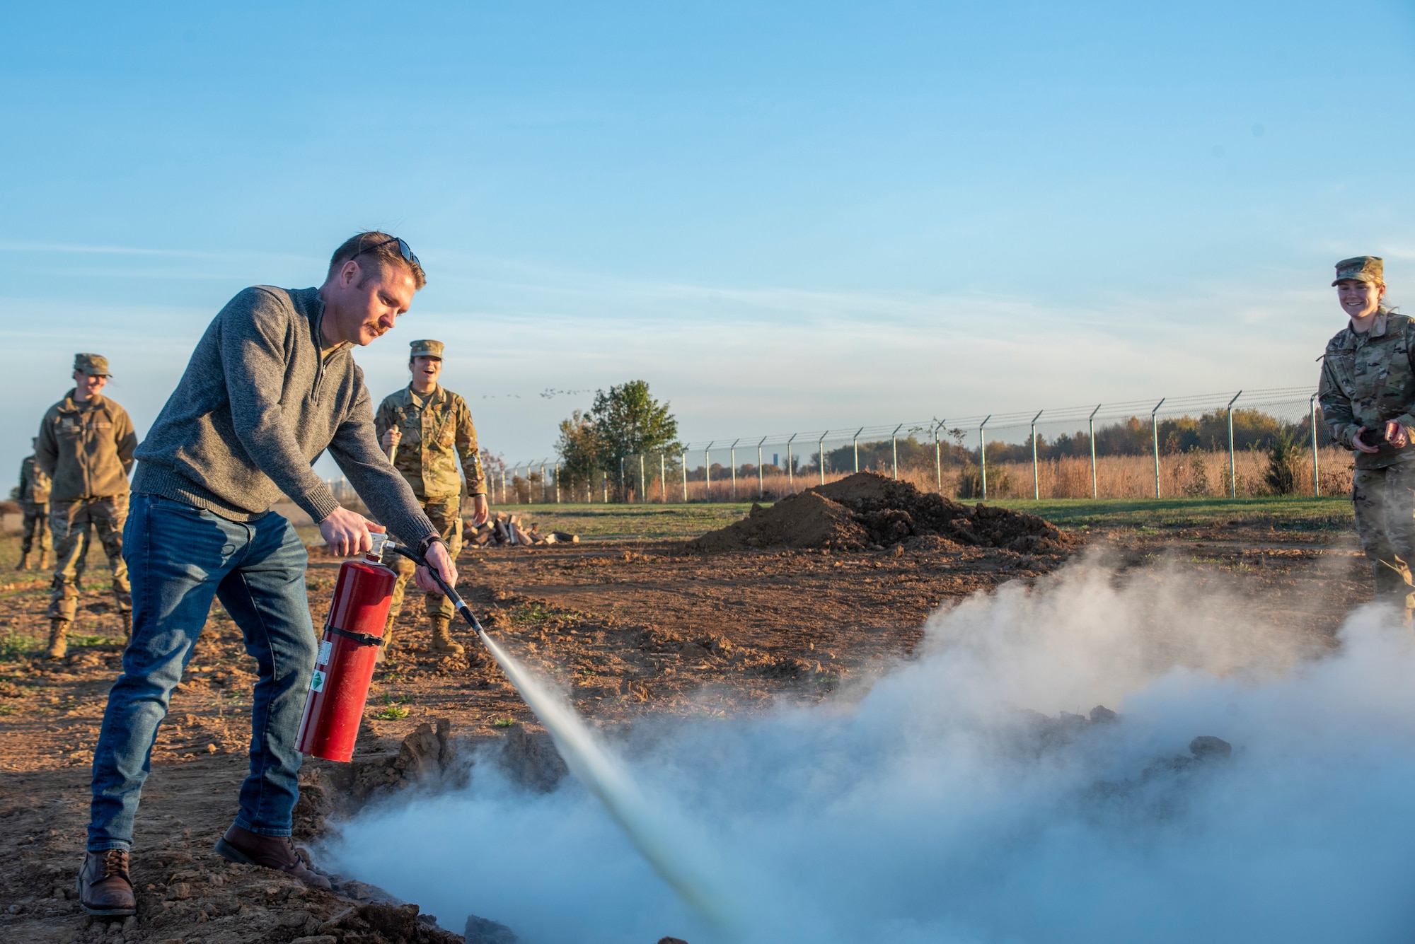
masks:
<svg viewBox="0 0 1415 944"><path fill-rule="evenodd" d="M1415 459L1415 447L1397 449L1382 442L1380 452L1361 452L1351 445L1357 430L1385 431L1395 420L1415 427L1415 321L1394 312L1375 317L1371 329L1360 334L1347 325L1327 343L1322 358L1317 401L1332 438L1356 451L1356 468L1380 469Z"/></svg>

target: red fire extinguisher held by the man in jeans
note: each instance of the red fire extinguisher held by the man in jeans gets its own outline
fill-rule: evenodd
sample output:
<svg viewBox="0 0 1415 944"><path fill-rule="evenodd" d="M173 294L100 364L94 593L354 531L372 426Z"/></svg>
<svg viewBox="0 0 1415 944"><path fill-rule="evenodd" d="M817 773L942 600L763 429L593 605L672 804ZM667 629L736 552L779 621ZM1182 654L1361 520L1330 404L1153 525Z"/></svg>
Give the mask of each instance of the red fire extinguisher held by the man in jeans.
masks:
<svg viewBox="0 0 1415 944"><path fill-rule="evenodd" d="M344 561L334 584L334 602L324 622L320 654L314 660L310 698L304 702L300 753L347 763L354 756L374 663L383 644L383 622L393 601L398 575L383 567L382 534L362 560Z"/></svg>

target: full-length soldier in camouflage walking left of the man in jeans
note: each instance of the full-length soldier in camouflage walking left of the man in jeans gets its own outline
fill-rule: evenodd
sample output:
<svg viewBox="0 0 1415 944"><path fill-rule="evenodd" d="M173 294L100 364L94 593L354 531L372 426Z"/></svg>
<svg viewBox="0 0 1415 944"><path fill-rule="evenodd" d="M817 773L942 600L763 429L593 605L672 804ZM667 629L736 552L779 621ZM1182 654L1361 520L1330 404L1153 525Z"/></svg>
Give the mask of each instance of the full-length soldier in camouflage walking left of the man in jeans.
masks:
<svg viewBox="0 0 1415 944"><path fill-rule="evenodd" d="M74 390L50 407L40 424L35 461L52 479L50 531L54 534L54 591L50 595L50 659L62 659L78 609L74 565L82 530L92 524L113 568L113 596L123 629L133 630L133 601L123 562L127 473L137 434L127 411L99 391L108 383L108 359L74 358Z"/></svg>

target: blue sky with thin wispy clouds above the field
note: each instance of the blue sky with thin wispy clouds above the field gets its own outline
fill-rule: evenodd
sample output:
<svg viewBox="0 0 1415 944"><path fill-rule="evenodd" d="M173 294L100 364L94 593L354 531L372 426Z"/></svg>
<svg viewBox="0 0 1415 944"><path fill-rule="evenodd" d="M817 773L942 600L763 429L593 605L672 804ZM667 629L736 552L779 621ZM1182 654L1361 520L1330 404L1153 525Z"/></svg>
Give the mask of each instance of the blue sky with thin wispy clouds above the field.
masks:
<svg viewBox="0 0 1415 944"><path fill-rule="evenodd" d="M18 464L75 350L146 430L241 287L381 226L508 459L647 379L688 438L1315 383L1415 298L1409 4L11 4Z"/></svg>

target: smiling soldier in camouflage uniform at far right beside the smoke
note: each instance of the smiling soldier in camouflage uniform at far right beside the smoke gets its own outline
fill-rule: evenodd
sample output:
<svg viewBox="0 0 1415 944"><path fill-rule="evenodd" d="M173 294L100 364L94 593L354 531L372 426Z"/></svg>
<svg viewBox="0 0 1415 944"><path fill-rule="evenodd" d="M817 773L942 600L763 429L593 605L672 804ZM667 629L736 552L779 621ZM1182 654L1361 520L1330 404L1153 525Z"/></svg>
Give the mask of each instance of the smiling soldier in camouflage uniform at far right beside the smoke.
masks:
<svg viewBox="0 0 1415 944"><path fill-rule="evenodd" d="M1384 263L1336 264L1337 300L1351 319L1327 343L1317 399L1332 438L1356 452L1351 500L1377 596L1415 608L1415 321L1381 304Z"/></svg>

